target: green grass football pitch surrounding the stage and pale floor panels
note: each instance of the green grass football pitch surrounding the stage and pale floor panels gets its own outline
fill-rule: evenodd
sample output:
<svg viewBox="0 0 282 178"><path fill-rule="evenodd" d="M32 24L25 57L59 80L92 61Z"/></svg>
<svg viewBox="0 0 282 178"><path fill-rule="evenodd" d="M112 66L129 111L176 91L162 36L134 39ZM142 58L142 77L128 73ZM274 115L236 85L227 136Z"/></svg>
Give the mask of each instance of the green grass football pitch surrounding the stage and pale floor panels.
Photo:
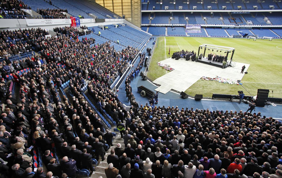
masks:
<svg viewBox="0 0 282 178"><path fill-rule="evenodd" d="M188 50L198 53L199 45L210 44L235 48L233 60L240 63L250 64L242 83L251 95L257 94L257 89L269 89L270 96L282 97L282 40L273 39L239 39L239 38L208 38L208 37L158 37L155 50L152 55L147 77L154 81L165 75L167 71L157 65L157 62L171 57L174 51ZM170 48L170 55L168 54ZM211 52L208 51L207 52ZM203 50L200 50L200 54ZM223 52L217 52L223 54ZM231 54L228 55L230 57ZM236 65L235 68L242 66ZM195 70L197 70L195 68ZM228 70L228 68L224 69ZM220 77L220 76L219 76ZM171 79L173 80L173 79ZM243 90L245 95L250 95L241 85L224 84L216 81L199 80L188 88L185 93L194 96L202 94L211 97L217 94L237 94Z"/></svg>

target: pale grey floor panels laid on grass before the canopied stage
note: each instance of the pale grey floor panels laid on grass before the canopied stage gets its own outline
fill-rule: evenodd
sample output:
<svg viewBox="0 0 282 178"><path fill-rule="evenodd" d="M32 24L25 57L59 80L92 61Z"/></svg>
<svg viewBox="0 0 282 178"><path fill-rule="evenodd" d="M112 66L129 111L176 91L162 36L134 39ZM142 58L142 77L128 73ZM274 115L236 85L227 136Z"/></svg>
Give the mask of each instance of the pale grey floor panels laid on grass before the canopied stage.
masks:
<svg viewBox="0 0 282 178"><path fill-rule="evenodd" d="M219 76L226 79L241 80L244 76L244 74L240 73L242 66L246 66L244 72L247 71L250 66L250 64L237 62L235 67L227 67L225 69L222 69L204 63L186 61L185 59L181 59L182 58L175 60L168 58L160 61L160 63L162 64L169 64L175 70L168 72L166 75L163 75L153 81L153 83L161 85L155 89L156 91L159 91L163 94L166 94L171 89L179 92L184 92L191 85L201 79L202 76Z"/></svg>

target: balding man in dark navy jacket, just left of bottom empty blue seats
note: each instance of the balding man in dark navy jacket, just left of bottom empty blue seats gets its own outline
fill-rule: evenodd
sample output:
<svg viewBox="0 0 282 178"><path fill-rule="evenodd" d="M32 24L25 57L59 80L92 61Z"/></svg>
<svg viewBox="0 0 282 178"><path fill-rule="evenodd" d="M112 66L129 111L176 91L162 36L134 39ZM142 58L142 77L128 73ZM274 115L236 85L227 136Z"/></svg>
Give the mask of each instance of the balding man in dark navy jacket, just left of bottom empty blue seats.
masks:
<svg viewBox="0 0 282 178"><path fill-rule="evenodd" d="M76 161L74 159L69 159L67 156L63 157L60 162L61 169L68 177L76 177Z"/></svg>

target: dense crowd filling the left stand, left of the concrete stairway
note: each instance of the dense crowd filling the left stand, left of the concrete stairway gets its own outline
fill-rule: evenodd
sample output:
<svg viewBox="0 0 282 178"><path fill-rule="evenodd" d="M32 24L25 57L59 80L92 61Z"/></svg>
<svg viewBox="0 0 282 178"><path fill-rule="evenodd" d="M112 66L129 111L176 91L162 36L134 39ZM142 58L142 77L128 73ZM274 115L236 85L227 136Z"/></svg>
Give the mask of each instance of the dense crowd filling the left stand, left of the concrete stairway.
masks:
<svg viewBox="0 0 282 178"><path fill-rule="evenodd" d="M3 66L0 66L1 78L11 73L19 86L19 96L16 97L8 91L8 83L4 79L0 82L1 101L5 104L5 107L1 105L0 110L2 177L45 176L42 167L38 167L35 174L32 172L34 153L28 149L31 145L37 146L43 153L42 160L49 171L46 177L75 177L77 169L93 170L92 157L95 155L93 156L92 146L96 150L96 156L99 156L99 150L107 149L103 141L103 123L85 101L81 88L85 79L91 77L93 92L103 93L108 98L102 98L108 102L113 97L117 98L107 93L109 85L117 75L124 73L138 50L128 46L118 52L111 42L90 46L93 39L83 38L79 41L78 36L83 34L77 30L69 27L58 30L63 35L49 38L44 37L45 31L40 28L1 32L3 51L10 47L7 43L10 37L17 39L17 44L22 44L25 49L29 46L29 50L39 52L39 56L12 64L6 58L1 63ZM13 68L4 67L6 64ZM63 64L66 68L58 64ZM30 70L26 70L21 76L17 74L17 70L26 68ZM57 92L69 80L72 101L66 96L60 98ZM101 107L105 105L101 103ZM50 152L54 151L51 142L54 142L57 152L63 156L60 163L50 156Z"/></svg>

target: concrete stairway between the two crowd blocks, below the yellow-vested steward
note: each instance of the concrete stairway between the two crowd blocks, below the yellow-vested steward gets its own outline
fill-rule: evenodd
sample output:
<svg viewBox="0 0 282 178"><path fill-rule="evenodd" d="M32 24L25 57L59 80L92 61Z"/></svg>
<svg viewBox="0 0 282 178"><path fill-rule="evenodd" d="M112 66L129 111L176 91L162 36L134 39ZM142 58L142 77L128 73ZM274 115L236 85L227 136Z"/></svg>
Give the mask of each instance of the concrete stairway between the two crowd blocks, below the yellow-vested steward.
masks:
<svg viewBox="0 0 282 178"><path fill-rule="evenodd" d="M113 129L112 129L112 132L113 132ZM122 145L122 148L125 148L124 139L121 138L120 133L117 133L116 137L113 137L114 146L110 146L109 152L105 154L106 159L102 161L101 157L99 157L99 160L97 163L98 165L95 166L95 171L92 172L91 178L98 178L99 176L102 176L103 178L107 178L105 174L105 168L109 166L109 164L107 163L107 157L108 155L111 154L111 149L114 149L118 143Z"/></svg>

